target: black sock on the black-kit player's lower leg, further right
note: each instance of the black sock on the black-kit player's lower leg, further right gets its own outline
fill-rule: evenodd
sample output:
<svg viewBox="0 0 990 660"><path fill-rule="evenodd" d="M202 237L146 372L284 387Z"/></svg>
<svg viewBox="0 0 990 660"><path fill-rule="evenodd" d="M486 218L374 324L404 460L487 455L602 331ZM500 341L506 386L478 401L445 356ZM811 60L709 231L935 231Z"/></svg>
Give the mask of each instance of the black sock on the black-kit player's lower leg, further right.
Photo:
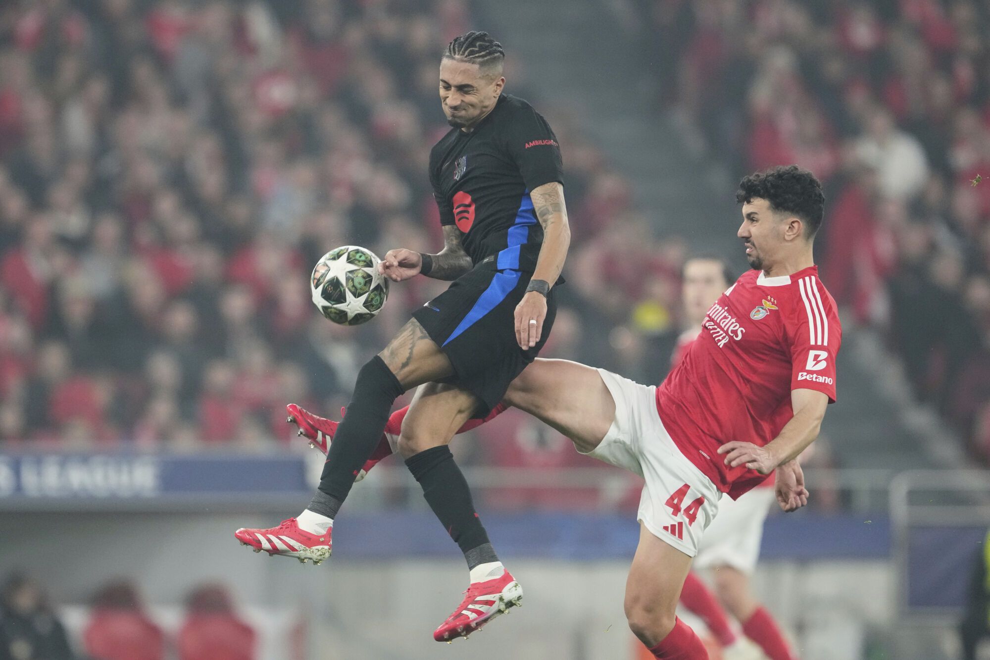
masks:
<svg viewBox="0 0 990 660"><path fill-rule="evenodd" d="M440 518L446 533L464 553L467 568L497 562L498 557L491 549L488 534L474 512L471 490L460 468L453 462L450 448L446 445L431 447L406 459L406 467L423 487L423 495Z"/></svg>

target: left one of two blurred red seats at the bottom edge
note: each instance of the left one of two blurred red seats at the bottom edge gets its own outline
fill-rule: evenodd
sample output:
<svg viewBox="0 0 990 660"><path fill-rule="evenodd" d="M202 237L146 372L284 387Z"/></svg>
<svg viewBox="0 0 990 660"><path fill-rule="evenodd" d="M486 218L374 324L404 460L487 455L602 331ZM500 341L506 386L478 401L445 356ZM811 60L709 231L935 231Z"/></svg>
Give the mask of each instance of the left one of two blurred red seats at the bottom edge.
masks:
<svg viewBox="0 0 990 660"><path fill-rule="evenodd" d="M128 580L110 582L93 598L82 633L86 653L97 660L164 660L165 638L145 612Z"/></svg>

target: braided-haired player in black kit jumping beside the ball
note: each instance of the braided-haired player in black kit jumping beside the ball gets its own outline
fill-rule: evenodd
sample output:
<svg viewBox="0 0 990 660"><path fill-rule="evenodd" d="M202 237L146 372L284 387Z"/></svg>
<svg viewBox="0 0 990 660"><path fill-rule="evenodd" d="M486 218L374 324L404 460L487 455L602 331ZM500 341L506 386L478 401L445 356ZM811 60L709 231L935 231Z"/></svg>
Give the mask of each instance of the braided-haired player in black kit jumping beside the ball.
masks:
<svg viewBox="0 0 990 660"><path fill-rule="evenodd" d="M430 154L445 247L436 255L391 250L380 265L393 281L426 275L453 283L361 368L306 510L277 527L236 533L255 551L303 563L329 557L334 518L392 403L419 386L399 450L464 553L471 583L434 632L438 641L472 632L523 596L499 562L447 445L464 422L485 416L540 353L570 243L559 146L529 103L503 93L504 58L484 32L447 46L440 97L452 128Z"/></svg>

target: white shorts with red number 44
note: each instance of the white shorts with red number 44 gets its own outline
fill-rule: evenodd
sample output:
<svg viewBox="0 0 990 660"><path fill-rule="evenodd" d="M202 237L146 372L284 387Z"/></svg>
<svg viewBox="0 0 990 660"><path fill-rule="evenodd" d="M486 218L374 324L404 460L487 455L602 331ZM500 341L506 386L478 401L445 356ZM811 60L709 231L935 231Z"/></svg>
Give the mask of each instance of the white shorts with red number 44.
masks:
<svg viewBox="0 0 990 660"><path fill-rule="evenodd" d="M588 456L643 477L640 522L657 538L694 557L722 494L663 428L656 411L655 386L640 385L604 369L598 373L615 399L616 418Z"/></svg>

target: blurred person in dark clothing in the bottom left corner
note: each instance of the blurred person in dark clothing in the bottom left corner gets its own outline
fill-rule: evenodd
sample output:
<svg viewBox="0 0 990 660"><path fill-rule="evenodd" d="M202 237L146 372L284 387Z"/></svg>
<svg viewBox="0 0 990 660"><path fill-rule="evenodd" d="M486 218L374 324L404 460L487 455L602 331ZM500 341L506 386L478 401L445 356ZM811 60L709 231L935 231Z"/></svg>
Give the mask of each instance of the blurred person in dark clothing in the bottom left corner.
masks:
<svg viewBox="0 0 990 660"><path fill-rule="evenodd" d="M61 621L41 588L21 574L9 576L0 603L0 658L72 660Z"/></svg>

